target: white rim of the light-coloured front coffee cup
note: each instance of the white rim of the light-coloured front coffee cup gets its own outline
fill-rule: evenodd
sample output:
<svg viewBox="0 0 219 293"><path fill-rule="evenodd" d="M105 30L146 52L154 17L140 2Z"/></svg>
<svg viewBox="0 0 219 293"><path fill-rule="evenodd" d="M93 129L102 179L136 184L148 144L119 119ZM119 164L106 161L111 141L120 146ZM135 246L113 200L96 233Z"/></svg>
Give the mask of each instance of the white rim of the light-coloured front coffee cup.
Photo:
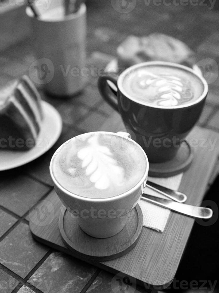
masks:
<svg viewBox="0 0 219 293"><path fill-rule="evenodd" d="M92 131L92 132L86 132L86 133L83 133L83 134L92 134L92 133L106 133L106 134L112 134L112 135L116 135L116 136L119 136L119 137L122 137L121 135L118 135L117 133L115 132L108 132L108 131ZM80 134L80 135L83 135L83 134ZM77 137L77 136L80 136L80 135L76 135L74 136L73 138ZM133 193L135 190L137 190L143 183L144 181L147 181L147 176L148 176L148 170L149 170L149 162L148 162L148 158L147 158L147 155L145 153L145 151L142 149L142 147L136 143L136 141L134 141L133 139L129 138L129 137L123 137L129 141L132 141L134 144L136 144L143 152L144 156L145 156L145 160L146 160L146 170L145 170L145 173L144 175L142 176L141 180L134 186L132 187L130 190L124 192L124 193L121 193L119 195L116 195L116 196L112 196L112 197L107 197L107 198L89 198L89 197L85 197L85 196L80 196L80 195L77 195L75 193L72 193L70 192L69 190L65 189L62 185L60 185L58 183L58 181L56 180L53 172L52 172L52 162L55 158L55 155L60 151L60 149L63 147L64 144L66 144L68 141L70 141L72 138L70 138L69 140L67 140L66 142L64 142L61 146L59 146L59 148L55 151L55 153L53 154L52 158L51 158L51 161L50 161L50 164L49 164L49 172L50 172L50 175L52 177L52 181L55 183L56 186L58 186L58 188L66 193L67 195L69 196L72 196L76 199L79 199L79 200L83 200L83 201L86 201L86 202L113 202L115 200L118 200L118 199L122 199L123 197L126 197L128 196L129 194Z"/></svg>

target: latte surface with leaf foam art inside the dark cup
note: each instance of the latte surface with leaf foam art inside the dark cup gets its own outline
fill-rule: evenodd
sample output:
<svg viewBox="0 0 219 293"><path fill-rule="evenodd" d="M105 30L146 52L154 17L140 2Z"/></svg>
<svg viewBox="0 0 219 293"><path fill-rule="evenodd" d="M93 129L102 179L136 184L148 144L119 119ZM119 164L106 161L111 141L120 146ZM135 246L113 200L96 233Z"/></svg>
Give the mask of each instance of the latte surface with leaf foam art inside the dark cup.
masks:
<svg viewBox="0 0 219 293"><path fill-rule="evenodd" d="M147 65L127 74L125 92L137 102L171 107L191 103L204 91L201 81L190 71L167 65Z"/></svg>

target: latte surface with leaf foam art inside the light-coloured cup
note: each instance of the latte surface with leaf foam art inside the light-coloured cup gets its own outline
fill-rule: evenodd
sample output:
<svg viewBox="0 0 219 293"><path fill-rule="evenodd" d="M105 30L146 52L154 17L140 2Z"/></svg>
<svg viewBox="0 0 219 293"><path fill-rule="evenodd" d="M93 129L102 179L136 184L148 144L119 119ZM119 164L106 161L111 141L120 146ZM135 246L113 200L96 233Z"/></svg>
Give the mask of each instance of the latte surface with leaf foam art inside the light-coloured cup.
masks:
<svg viewBox="0 0 219 293"><path fill-rule="evenodd" d="M145 170L145 155L135 143L101 132L72 138L52 161L52 173L64 189L90 198L108 198L130 190Z"/></svg>

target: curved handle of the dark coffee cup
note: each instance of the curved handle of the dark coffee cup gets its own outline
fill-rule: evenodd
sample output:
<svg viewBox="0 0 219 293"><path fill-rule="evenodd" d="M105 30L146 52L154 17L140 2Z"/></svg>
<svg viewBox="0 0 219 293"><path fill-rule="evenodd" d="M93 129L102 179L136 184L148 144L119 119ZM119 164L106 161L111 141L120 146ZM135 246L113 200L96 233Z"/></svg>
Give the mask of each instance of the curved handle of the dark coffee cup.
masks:
<svg viewBox="0 0 219 293"><path fill-rule="evenodd" d="M104 100L110 104L116 111L118 110L118 100L117 100L117 95L116 93L114 93L115 91L113 91L113 89L109 86L107 81L111 81L117 88L118 90L118 86L117 86L117 79L118 77L112 77L110 75L103 75L100 76L98 79L98 89L100 94L102 95L102 97L104 98Z"/></svg>

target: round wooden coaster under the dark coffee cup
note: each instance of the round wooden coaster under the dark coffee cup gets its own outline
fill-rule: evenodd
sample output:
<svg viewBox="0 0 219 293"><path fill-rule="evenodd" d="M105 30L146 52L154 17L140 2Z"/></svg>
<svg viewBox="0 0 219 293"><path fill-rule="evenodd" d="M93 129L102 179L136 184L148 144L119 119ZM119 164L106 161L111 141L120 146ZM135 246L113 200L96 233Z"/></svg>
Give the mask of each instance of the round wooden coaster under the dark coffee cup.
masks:
<svg viewBox="0 0 219 293"><path fill-rule="evenodd" d="M183 141L176 156L164 163L150 163L148 176L170 177L186 171L194 158L194 150L187 141Z"/></svg>

